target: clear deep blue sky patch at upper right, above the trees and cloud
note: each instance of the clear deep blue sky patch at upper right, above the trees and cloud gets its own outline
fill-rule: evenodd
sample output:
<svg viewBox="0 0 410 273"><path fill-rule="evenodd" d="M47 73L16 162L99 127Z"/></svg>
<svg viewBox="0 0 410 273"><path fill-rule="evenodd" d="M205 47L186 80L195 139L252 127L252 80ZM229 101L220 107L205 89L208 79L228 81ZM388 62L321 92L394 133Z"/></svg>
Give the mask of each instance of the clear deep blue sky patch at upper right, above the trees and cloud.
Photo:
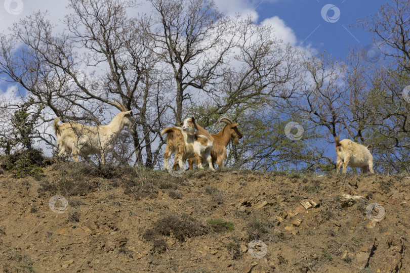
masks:
<svg viewBox="0 0 410 273"><path fill-rule="evenodd" d="M325 50L335 57L344 58L347 56L347 47L364 47L372 43L370 33L349 26L359 18L377 14L380 6L385 3L387 2L370 0L284 0L274 3L264 1L256 11L261 21L272 16L281 18L293 29L298 42L306 39L303 45L310 44L313 49ZM326 4L333 4L339 8L340 18L337 22L329 23L322 18L321 9ZM329 11L328 15L332 17L334 12Z"/></svg>

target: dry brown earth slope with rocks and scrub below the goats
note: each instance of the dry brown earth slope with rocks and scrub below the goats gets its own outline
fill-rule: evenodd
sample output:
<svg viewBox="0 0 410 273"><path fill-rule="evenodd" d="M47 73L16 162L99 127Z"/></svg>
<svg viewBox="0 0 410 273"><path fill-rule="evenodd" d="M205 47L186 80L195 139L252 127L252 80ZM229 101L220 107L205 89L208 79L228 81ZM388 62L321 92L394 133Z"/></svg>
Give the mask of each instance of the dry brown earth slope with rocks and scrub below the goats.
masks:
<svg viewBox="0 0 410 273"><path fill-rule="evenodd" d="M62 213L49 206L56 194L68 200L65 211L55 204ZM410 272L409 199L407 175L224 169L176 178L56 163L34 177L0 175L0 269ZM380 221L366 216L372 203L382 206L372 215L385 210Z"/></svg>

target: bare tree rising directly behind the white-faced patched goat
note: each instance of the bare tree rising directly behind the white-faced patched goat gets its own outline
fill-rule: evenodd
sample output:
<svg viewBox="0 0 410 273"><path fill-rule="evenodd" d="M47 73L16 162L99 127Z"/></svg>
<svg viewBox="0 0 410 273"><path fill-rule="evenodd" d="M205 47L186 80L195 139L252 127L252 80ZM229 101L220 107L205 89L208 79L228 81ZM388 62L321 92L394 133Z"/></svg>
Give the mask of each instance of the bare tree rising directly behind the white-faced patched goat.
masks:
<svg viewBox="0 0 410 273"><path fill-rule="evenodd" d="M174 80L176 122L193 90L212 92L221 67L235 46L236 22L223 17L212 0L149 0L153 24L145 28L155 53Z"/></svg>

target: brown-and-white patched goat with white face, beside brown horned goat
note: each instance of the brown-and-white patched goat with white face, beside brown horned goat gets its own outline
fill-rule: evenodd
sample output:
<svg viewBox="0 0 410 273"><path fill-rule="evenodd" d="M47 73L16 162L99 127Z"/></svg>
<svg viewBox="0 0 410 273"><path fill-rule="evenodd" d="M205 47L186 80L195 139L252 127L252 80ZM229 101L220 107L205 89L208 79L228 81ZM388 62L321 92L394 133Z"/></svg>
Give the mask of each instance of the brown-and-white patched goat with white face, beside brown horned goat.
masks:
<svg viewBox="0 0 410 273"><path fill-rule="evenodd" d="M170 127L161 131L161 136L167 133L167 147L164 153L164 167L172 173L168 160L175 153L175 160L179 164L180 173L185 171L184 163L188 158L196 158L199 162L199 168L202 168L201 157L207 159L209 167L215 170L212 166L211 149L214 144L207 136L197 134L195 118L187 118L181 122L182 128Z"/></svg>

